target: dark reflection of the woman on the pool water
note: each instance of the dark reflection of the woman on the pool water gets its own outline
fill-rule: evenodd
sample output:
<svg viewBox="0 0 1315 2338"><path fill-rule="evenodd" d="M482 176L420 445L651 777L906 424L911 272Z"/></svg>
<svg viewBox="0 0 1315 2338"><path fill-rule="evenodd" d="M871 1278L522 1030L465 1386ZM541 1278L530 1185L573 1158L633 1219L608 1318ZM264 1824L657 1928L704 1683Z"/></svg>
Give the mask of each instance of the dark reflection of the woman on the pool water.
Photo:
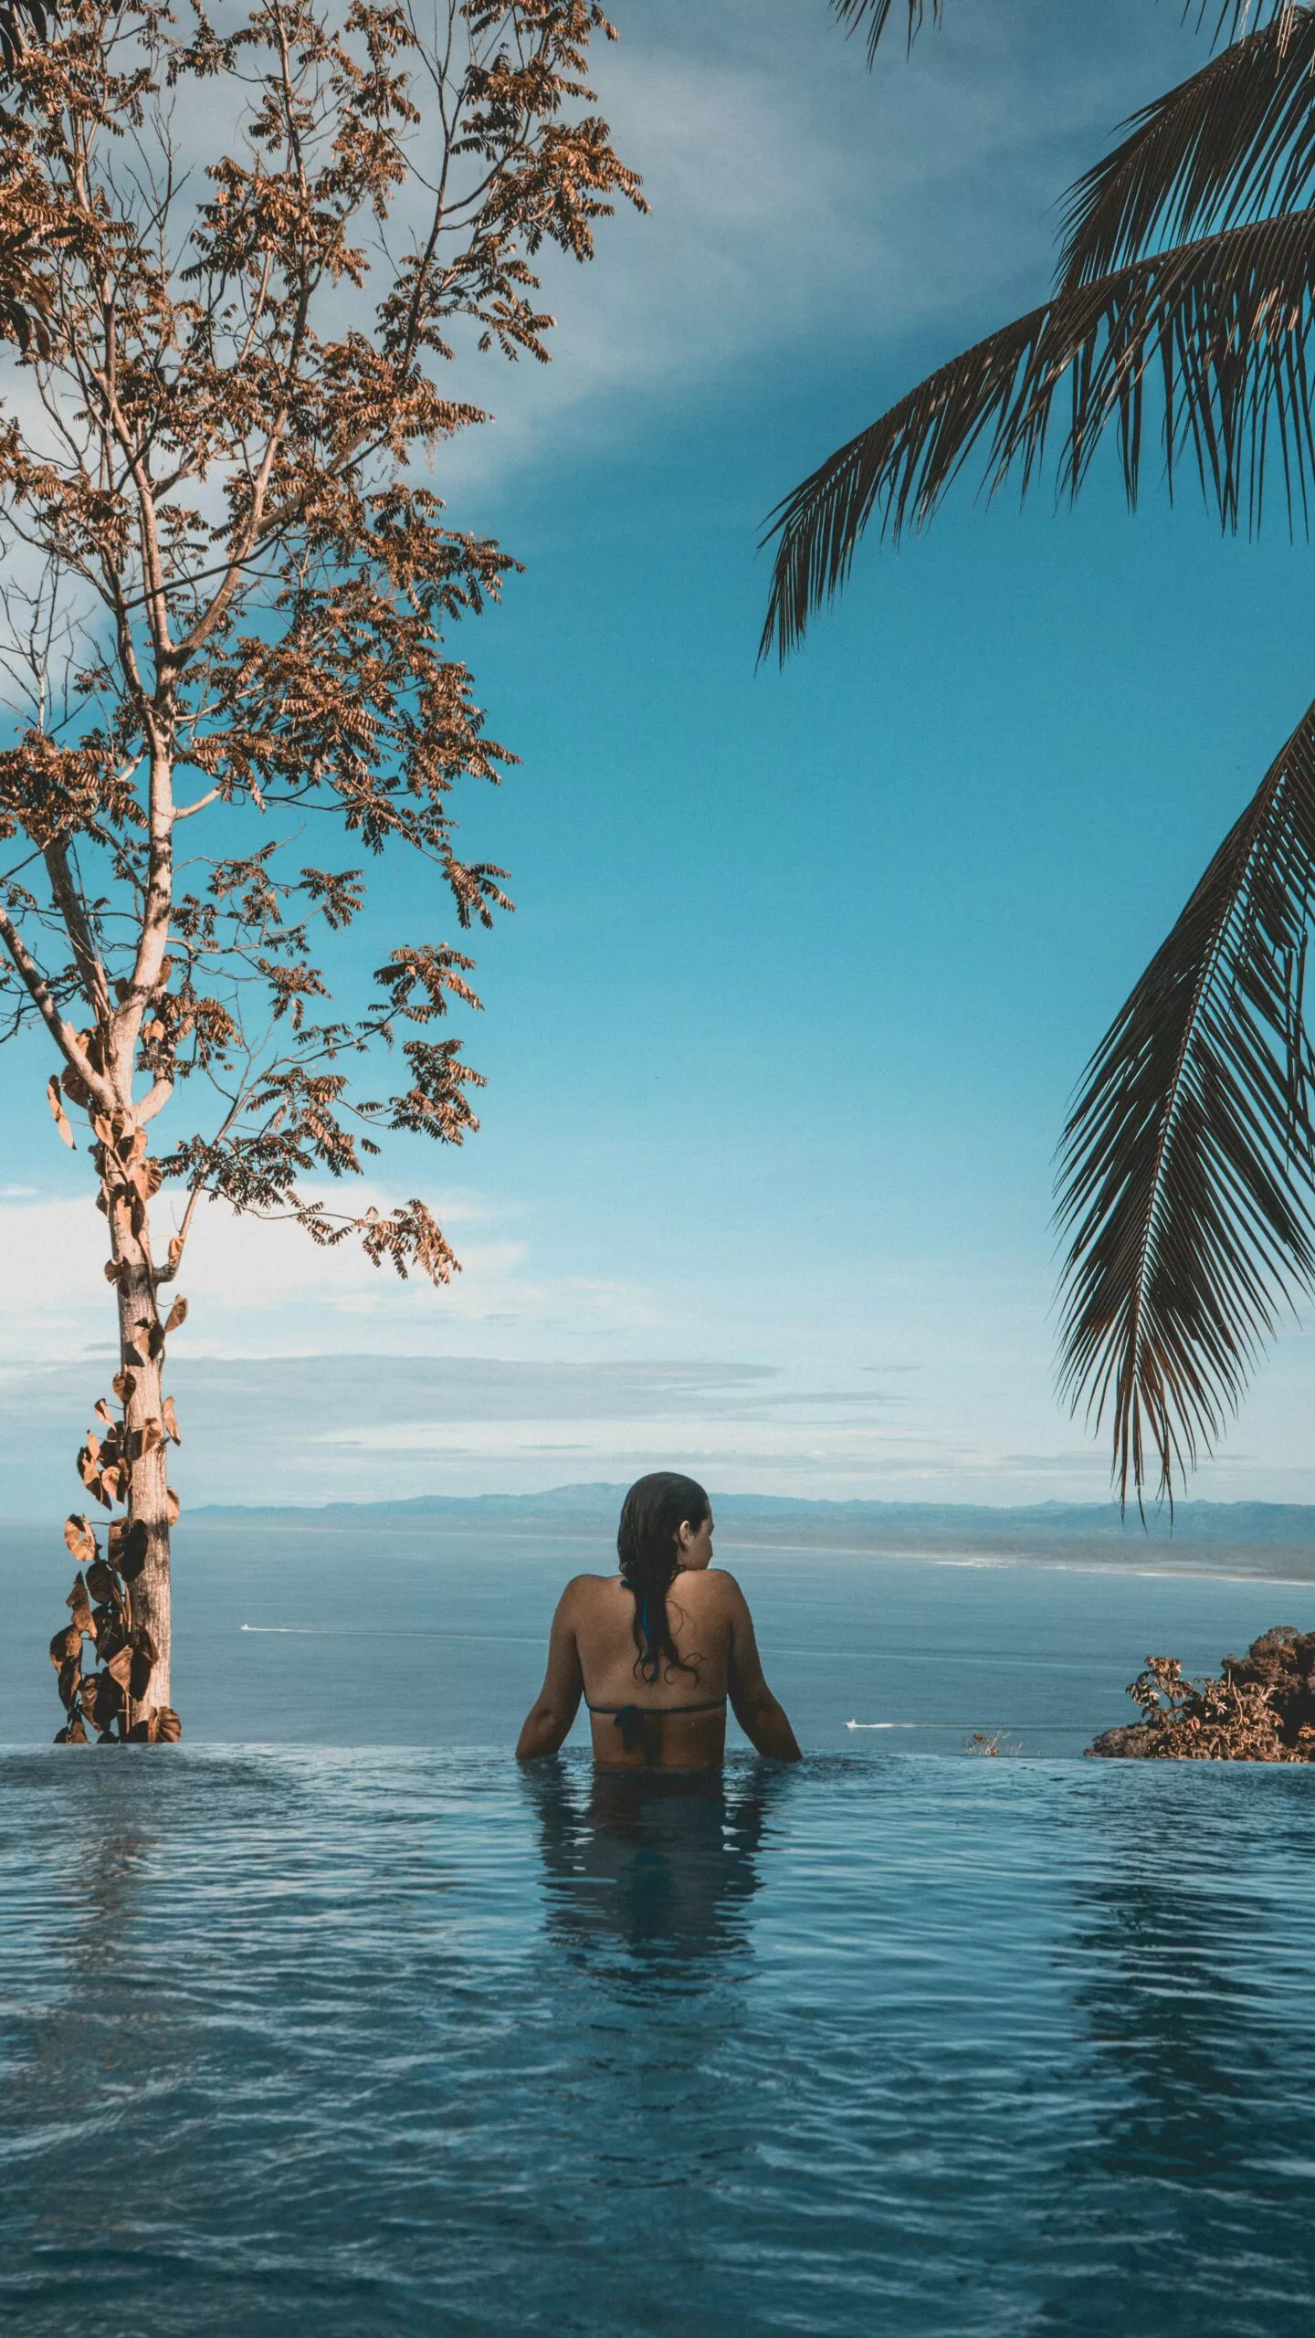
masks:
<svg viewBox="0 0 1315 2338"><path fill-rule="evenodd" d="M524 1772L548 1882L545 1929L571 1957L608 1950L674 1987L749 1948L758 1852L786 1770L636 1777L562 1761Z"/></svg>

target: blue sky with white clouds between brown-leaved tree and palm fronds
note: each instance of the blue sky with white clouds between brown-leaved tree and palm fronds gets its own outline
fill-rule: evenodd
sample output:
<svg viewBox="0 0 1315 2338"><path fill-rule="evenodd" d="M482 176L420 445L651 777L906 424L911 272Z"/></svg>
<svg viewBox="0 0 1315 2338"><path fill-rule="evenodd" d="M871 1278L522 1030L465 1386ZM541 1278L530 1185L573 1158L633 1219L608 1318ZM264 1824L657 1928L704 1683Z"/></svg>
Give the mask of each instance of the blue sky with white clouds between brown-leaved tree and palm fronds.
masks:
<svg viewBox="0 0 1315 2338"><path fill-rule="evenodd" d="M185 1503L714 1487L1107 1499L1055 1400L1067 1097L1310 697L1310 559L1109 470L859 556L756 671L782 493L1046 290L1055 203L1203 58L1175 0L948 0L873 72L826 0L618 0L601 112L650 217L548 269L555 360L435 484L524 563L456 643L522 758L463 1150L398 1141L463 1272L398 1286L204 1211ZM424 872L365 942L447 935ZM449 938L449 935L447 935ZM7 1059L0 1513L68 1506L112 1370L103 1220ZM241 1396L241 1403L239 1403ZM1193 1492L1315 1501L1294 1323ZM192 1410L190 1410L192 1407ZM192 1426L190 1426L192 1424Z"/></svg>

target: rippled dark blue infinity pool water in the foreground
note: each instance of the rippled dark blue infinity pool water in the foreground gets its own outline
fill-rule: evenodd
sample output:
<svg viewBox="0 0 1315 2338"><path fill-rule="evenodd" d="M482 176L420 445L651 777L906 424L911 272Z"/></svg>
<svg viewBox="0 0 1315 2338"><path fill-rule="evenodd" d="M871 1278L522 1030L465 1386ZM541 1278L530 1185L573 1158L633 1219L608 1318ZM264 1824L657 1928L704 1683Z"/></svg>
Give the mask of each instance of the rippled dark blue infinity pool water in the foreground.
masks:
<svg viewBox="0 0 1315 2338"><path fill-rule="evenodd" d="M1306 2338L1315 1775L889 1744L0 1756L0 2326Z"/></svg>

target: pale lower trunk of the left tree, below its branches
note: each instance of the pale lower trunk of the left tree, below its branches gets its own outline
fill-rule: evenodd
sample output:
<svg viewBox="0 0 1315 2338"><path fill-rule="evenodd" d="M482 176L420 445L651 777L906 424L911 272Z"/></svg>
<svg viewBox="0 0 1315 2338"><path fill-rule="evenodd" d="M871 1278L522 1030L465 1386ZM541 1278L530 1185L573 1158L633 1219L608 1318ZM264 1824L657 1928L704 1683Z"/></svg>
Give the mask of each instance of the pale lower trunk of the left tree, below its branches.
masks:
<svg viewBox="0 0 1315 2338"><path fill-rule="evenodd" d="M150 1220L140 1197L119 1185L108 1192L108 1218L119 1263L119 1365L124 1372L124 1426L129 1431L131 1492L129 1522L145 1527L145 1564L131 1583L133 1623L145 1625L154 1641L154 1665L133 1716L152 1704L171 1704L171 1583L168 1583L168 1443L161 1422L164 1344L154 1302L150 1258Z"/></svg>

